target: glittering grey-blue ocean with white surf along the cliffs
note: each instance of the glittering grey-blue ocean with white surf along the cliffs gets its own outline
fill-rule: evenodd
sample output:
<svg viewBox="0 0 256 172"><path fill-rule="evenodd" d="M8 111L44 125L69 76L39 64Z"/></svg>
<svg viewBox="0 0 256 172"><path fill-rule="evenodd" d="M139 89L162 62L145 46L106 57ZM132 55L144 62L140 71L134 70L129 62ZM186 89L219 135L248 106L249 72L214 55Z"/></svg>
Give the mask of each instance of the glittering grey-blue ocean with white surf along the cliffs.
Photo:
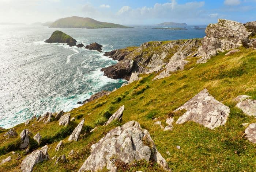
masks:
<svg viewBox="0 0 256 172"><path fill-rule="evenodd" d="M200 26L206 27L206 26ZM103 52L154 40L203 38L204 30L135 28L48 28L0 25L0 127L11 128L34 115L65 112L101 90L125 80L103 76L102 67L117 63L103 53L59 43L44 43L55 30L84 45L97 42Z"/></svg>

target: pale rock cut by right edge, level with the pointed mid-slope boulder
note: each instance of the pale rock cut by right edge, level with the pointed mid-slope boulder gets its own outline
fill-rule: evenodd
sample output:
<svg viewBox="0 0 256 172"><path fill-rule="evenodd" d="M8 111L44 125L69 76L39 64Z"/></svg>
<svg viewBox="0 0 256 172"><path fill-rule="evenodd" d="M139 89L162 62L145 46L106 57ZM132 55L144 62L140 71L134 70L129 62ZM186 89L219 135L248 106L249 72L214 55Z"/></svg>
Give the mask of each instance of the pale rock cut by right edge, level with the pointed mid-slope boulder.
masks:
<svg viewBox="0 0 256 172"><path fill-rule="evenodd" d="M256 117L256 100L249 99L248 95L239 95L236 97L238 101L236 107L241 109L245 114Z"/></svg>

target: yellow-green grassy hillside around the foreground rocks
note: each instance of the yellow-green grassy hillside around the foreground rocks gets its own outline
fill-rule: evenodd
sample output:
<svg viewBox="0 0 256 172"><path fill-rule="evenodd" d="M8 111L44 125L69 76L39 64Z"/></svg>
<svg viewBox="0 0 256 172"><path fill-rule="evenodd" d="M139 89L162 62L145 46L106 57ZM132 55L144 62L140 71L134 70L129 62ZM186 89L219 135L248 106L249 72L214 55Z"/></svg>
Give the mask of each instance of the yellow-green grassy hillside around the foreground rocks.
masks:
<svg viewBox="0 0 256 172"><path fill-rule="evenodd" d="M139 82L121 87L109 96L72 110L71 117L86 118L86 131L106 121L101 115L102 112L110 110L113 113L118 107L125 105L121 123L115 121L109 126L99 126L93 133L81 137L78 142L69 143L66 137L64 147L57 153L54 148L58 141L50 144L50 157L62 154L67 156L71 149L77 152L65 164L54 166L55 160L49 160L36 165L34 171L77 171L90 155L91 144L97 142L110 129L131 120L138 121L150 132L157 149L174 172L256 171L256 144L246 140L243 134L245 127L241 125L256 122L256 119L243 114L233 101L233 98L241 94L251 95L256 99L256 50L241 48L241 52L230 56L225 56L224 52L205 64L196 64L196 58L191 58L190 61L184 71L178 71L168 78L151 81L156 74L143 75L144 79ZM163 131L159 126L153 125L153 117L159 118L164 125L168 116L173 116L176 121L182 113L173 114L172 111L204 88L218 101L230 107L231 113L224 126L210 130L195 122L186 122L183 125L174 124L173 131ZM76 119L71 125L76 126L80 120ZM18 133L23 128L30 128L33 134L39 131L43 137L60 130L57 121L47 125L35 122L35 127L32 128L33 123L28 127L20 124L15 128ZM0 146L9 142L2 142L3 134L0 133ZM181 146L180 150L176 149L177 145ZM18 152L22 153L22 159L26 156L22 151ZM0 160L8 156L12 156L11 153L0 156ZM16 161L15 156L0 171L16 171L22 159ZM157 165L148 163L132 165L130 171L136 170L162 171Z"/></svg>

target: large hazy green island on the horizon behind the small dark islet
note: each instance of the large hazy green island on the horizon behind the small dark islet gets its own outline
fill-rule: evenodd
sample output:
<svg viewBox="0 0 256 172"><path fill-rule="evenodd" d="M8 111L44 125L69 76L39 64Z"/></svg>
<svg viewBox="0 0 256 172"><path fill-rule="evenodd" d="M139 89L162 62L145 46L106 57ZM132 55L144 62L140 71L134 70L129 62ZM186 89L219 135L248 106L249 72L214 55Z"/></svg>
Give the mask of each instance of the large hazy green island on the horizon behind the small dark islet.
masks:
<svg viewBox="0 0 256 172"><path fill-rule="evenodd" d="M91 19L89 17L66 17L54 21L50 27L54 28L87 28L87 29L97 29L97 28L126 28L126 26L114 23L106 23Z"/></svg>

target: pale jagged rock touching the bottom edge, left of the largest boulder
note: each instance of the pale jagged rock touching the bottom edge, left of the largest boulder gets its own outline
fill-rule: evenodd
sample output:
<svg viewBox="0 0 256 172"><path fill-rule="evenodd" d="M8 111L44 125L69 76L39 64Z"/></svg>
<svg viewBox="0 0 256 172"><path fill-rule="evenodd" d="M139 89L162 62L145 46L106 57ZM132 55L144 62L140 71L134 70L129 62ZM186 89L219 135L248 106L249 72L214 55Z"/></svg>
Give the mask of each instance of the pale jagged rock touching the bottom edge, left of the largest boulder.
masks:
<svg viewBox="0 0 256 172"><path fill-rule="evenodd" d="M38 164L44 160L49 159L48 146L45 145L39 150L33 151L30 155L25 157L21 163L22 172L31 172L35 164Z"/></svg>

